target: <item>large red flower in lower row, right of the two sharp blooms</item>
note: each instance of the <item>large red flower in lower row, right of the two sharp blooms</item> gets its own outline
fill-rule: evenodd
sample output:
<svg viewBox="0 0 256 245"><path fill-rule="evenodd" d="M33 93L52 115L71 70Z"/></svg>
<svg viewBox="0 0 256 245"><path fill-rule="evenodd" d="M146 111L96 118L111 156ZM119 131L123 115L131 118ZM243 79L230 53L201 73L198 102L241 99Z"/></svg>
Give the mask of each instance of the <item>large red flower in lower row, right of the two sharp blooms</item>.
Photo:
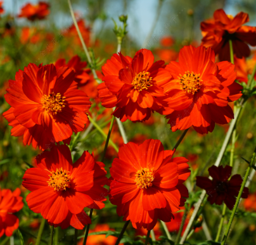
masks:
<svg viewBox="0 0 256 245"><path fill-rule="evenodd" d="M188 160L173 158L159 140L129 142L119 149L110 168L110 202L117 214L131 220L134 228L153 229L157 219L170 222L184 206L188 189L182 184L190 175Z"/></svg>

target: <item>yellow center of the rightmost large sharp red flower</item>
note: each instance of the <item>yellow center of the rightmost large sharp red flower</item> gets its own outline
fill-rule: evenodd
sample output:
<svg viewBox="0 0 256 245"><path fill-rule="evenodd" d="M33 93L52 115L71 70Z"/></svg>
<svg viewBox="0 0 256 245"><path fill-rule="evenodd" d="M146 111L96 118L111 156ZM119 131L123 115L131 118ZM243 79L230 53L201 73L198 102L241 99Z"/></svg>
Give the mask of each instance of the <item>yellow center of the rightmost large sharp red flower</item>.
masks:
<svg viewBox="0 0 256 245"><path fill-rule="evenodd" d="M179 74L181 77L178 77L179 84L181 84L181 89L186 91L188 94L195 94L201 89L203 80L200 79L200 74L197 75L194 72L185 72L184 75Z"/></svg>

